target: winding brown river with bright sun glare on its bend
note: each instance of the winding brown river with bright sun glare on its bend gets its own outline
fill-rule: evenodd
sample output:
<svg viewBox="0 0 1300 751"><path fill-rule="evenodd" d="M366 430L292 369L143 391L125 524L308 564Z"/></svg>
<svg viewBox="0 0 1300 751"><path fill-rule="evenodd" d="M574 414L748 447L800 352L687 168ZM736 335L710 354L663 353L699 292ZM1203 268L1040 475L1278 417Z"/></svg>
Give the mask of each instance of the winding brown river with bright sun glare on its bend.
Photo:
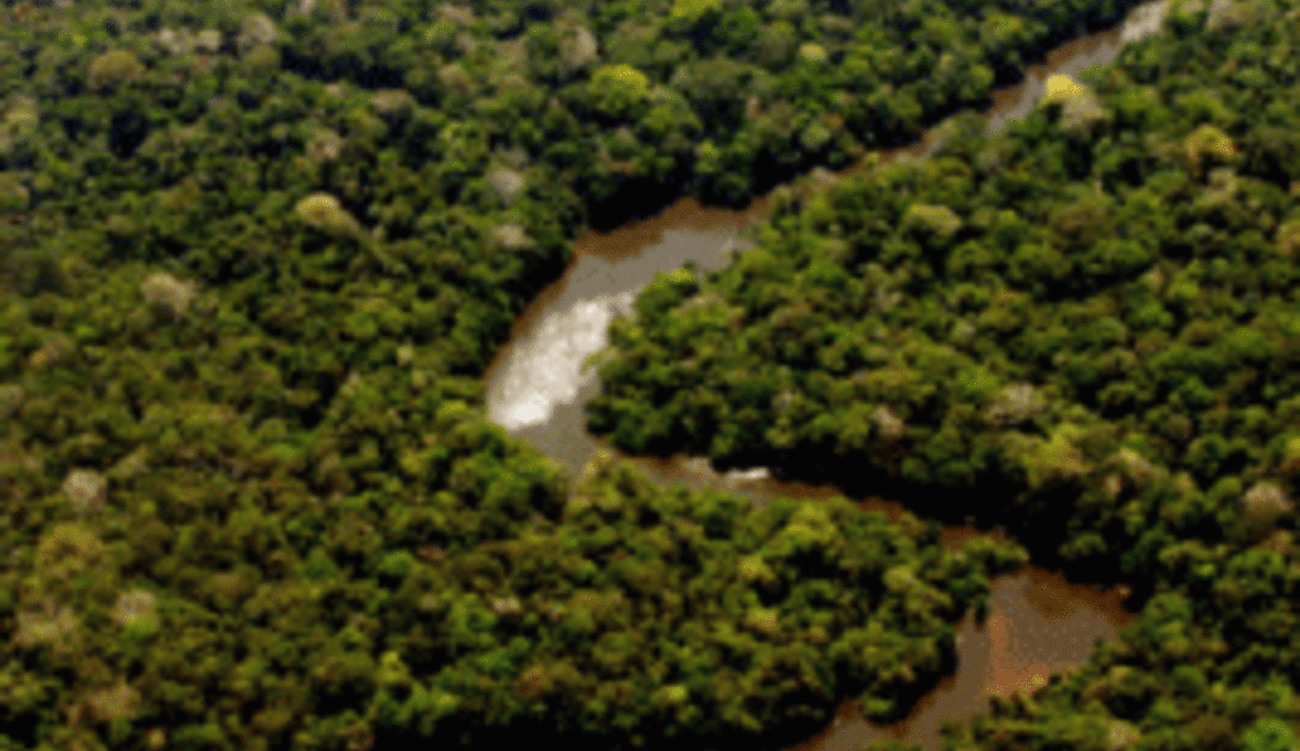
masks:
<svg viewBox="0 0 1300 751"><path fill-rule="evenodd" d="M1049 75L1072 75L1109 64L1124 44L1158 32L1165 8L1165 0L1141 5L1119 27L1049 52L1044 62L1027 70L1022 83L993 94L987 113L989 131L1028 114ZM924 159L930 151L923 139L883 156ZM823 172L822 178L829 182L845 174ZM610 321L629 313L637 292L660 272L688 261L701 272L725 266L733 253L749 247L744 230L767 216L766 197L740 210L682 199L649 220L580 238L564 275L515 321L510 343L488 372L491 420L573 472L595 451L608 450L585 429L584 405L597 395L599 385L584 364L606 346ZM838 494L835 487L780 482L760 468L719 474L702 459L636 463L660 482L725 489L757 503L776 495L815 499ZM890 516L904 512L902 505L880 499L862 503ZM974 534L980 533L968 526L945 528L944 541L956 546ZM852 702L845 703L829 728L797 750L858 751L883 738L939 748L942 722L984 712L991 695L1032 690L1048 676L1080 665L1098 641L1114 638L1132 618L1122 607L1126 594L1124 587L1101 590L1071 583L1036 566L1000 577L993 582L985 622L967 617L959 625L957 672L922 698L905 720L874 725Z"/></svg>

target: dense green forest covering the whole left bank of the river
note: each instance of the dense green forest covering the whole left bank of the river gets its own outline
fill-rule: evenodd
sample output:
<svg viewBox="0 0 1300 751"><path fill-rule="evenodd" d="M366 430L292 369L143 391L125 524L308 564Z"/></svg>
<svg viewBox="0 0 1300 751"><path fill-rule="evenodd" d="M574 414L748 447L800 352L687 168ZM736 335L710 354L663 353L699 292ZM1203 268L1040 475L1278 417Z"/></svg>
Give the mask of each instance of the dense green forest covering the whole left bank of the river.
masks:
<svg viewBox="0 0 1300 751"><path fill-rule="evenodd" d="M742 201L1131 3L0 4L0 747L779 745L1019 565L569 478L482 370L586 226Z"/></svg>

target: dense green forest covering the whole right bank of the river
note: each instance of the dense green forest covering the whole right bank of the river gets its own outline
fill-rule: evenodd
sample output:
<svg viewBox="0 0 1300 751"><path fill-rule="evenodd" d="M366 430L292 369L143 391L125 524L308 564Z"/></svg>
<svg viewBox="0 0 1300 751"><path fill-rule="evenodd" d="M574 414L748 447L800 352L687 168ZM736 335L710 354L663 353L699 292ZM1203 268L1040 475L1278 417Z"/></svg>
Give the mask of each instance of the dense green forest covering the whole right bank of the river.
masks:
<svg viewBox="0 0 1300 751"><path fill-rule="evenodd" d="M1117 643L953 748L1294 748L1296 39L1290 1L1175 4L997 136L961 116L928 161L781 188L754 249L615 322L590 426L1139 589Z"/></svg>

